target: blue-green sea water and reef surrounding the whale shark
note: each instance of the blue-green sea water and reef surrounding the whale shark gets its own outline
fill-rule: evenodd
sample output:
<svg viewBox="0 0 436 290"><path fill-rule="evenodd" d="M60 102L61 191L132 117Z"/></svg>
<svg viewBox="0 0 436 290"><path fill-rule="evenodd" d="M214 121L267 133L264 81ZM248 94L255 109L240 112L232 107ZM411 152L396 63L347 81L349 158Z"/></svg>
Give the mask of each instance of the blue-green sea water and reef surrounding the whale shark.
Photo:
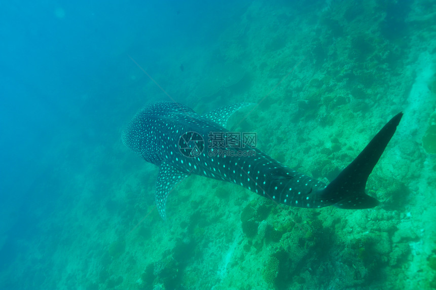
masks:
<svg viewBox="0 0 436 290"><path fill-rule="evenodd" d="M433 1L11 2L0 12L0 289L436 288ZM329 182L395 114L372 209L276 205L158 168L121 132L151 101Z"/></svg>

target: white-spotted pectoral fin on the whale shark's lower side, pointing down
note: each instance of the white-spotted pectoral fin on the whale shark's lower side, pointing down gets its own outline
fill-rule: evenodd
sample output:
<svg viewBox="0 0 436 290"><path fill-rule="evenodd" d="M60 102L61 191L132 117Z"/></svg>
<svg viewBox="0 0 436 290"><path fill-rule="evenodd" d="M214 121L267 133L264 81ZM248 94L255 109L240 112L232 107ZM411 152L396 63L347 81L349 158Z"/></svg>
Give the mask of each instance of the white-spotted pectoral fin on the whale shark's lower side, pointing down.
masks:
<svg viewBox="0 0 436 290"><path fill-rule="evenodd" d="M156 206L163 220L166 219L165 205L169 192L180 180L188 176L188 173L181 172L166 162L162 162L159 166L158 179L156 181Z"/></svg>

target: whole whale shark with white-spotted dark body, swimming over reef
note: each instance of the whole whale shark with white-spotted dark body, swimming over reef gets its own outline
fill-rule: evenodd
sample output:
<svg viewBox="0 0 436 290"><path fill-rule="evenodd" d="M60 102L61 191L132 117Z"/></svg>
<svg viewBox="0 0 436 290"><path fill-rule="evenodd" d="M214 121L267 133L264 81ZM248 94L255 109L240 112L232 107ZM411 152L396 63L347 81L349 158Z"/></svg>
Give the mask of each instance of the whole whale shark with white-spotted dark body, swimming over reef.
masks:
<svg viewBox="0 0 436 290"><path fill-rule="evenodd" d="M236 103L204 115L176 102L144 106L122 132L125 146L159 166L156 205L166 219L171 189L191 174L234 183L276 203L303 208L372 208L379 201L366 194L368 176L393 136L398 113L339 175L326 184L299 173L256 148L256 135L230 132L229 117L251 103Z"/></svg>

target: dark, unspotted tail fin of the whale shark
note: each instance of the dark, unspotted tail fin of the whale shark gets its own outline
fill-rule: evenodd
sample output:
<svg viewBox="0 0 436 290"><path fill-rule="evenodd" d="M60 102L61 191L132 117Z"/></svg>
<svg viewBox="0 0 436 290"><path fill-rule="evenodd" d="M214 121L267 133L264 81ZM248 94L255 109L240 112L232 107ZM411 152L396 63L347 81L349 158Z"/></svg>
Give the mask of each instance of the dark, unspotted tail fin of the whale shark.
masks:
<svg viewBox="0 0 436 290"><path fill-rule="evenodd" d="M340 208L362 209L377 206L378 200L365 193L368 176L379 161L402 117L403 113L398 113L387 122L338 177L316 193L316 198Z"/></svg>

